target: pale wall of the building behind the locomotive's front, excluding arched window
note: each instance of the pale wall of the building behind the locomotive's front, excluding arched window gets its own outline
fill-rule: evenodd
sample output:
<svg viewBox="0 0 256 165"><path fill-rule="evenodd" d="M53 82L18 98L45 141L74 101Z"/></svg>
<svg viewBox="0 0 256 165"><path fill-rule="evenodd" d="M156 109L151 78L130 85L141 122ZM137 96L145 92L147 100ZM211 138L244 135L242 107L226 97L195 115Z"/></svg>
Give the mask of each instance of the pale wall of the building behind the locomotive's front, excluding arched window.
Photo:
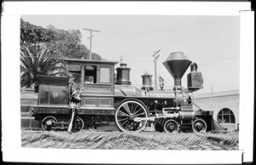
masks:
<svg viewBox="0 0 256 165"><path fill-rule="evenodd" d="M202 110L213 111L213 118L216 121L218 121L219 111L224 108L230 109L234 113L235 123L220 123L220 125L230 131L237 128L237 124L239 124L239 90L199 94L194 102ZM196 106L194 108L198 109Z"/></svg>

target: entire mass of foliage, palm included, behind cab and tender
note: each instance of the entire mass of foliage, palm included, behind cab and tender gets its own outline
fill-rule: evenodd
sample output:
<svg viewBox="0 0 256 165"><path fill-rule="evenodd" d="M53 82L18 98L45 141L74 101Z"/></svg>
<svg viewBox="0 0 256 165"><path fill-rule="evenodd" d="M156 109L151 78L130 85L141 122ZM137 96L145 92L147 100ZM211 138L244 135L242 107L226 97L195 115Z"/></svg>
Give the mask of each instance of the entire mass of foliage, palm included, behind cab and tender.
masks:
<svg viewBox="0 0 256 165"><path fill-rule="evenodd" d="M73 84L79 84L79 74L65 74L60 66L64 65L64 58L89 60L90 50L81 43L81 38L79 30L65 31L51 25L43 28L20 19L20 87L32 87L38 75L73 77ZM45 50L47 53L43 54ZM102 57L92 53L91 59Z"/></svg>

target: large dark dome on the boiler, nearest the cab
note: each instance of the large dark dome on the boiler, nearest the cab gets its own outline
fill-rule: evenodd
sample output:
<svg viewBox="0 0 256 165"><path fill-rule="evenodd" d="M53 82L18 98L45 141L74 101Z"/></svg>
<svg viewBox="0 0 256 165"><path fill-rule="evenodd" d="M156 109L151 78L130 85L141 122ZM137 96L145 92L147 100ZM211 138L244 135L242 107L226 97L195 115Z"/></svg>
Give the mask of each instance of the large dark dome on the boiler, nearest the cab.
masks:
<svg viewBox="0 0 256 165"><path fill-rule="evenodd" d="M131 68L126 66L125 63L120 63L120 66L116 68L116 84L131 85L130 82L130 70Z"/></svg>

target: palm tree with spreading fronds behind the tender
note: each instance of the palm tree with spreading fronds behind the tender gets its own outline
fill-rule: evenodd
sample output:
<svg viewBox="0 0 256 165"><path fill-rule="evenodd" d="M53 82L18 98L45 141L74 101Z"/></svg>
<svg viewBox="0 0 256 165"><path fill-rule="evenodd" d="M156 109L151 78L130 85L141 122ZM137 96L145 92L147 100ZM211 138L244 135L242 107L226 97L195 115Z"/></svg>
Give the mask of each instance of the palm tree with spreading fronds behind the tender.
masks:
<svg viewBox="0 0 256 165"><path fill-rule="evenodd" d="M67 74L58 52L44 46L20 48L20 86L32 87L38 83L38 75L62 76Z"/></svg>

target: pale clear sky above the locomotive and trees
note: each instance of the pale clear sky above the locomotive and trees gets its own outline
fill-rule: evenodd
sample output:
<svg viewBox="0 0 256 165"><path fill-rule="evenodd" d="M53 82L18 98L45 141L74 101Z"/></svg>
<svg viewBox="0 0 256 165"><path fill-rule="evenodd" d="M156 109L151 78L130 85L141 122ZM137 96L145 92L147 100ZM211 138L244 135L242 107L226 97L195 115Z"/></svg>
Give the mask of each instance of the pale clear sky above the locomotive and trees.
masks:
<svg viewBox="0 0 256 165"><path fill-rule="evenodd" d="M21 15L29 23L58 29L80 30L82 43L106 60L120 60L131 68L131 85L142 87L142 75L148 71L154 82L154 51L160 49L157 76L166 88L174 80L162 63L172 52L183 52L198 64L204 88L197 94L239 89L240 19L239 16L191 15ZM116 67L118 67L116 65ZM186 71L182 79L187 87ZM154 84L153 84L154 86ZM212 88L212 89L211 89Z"/></svg>

